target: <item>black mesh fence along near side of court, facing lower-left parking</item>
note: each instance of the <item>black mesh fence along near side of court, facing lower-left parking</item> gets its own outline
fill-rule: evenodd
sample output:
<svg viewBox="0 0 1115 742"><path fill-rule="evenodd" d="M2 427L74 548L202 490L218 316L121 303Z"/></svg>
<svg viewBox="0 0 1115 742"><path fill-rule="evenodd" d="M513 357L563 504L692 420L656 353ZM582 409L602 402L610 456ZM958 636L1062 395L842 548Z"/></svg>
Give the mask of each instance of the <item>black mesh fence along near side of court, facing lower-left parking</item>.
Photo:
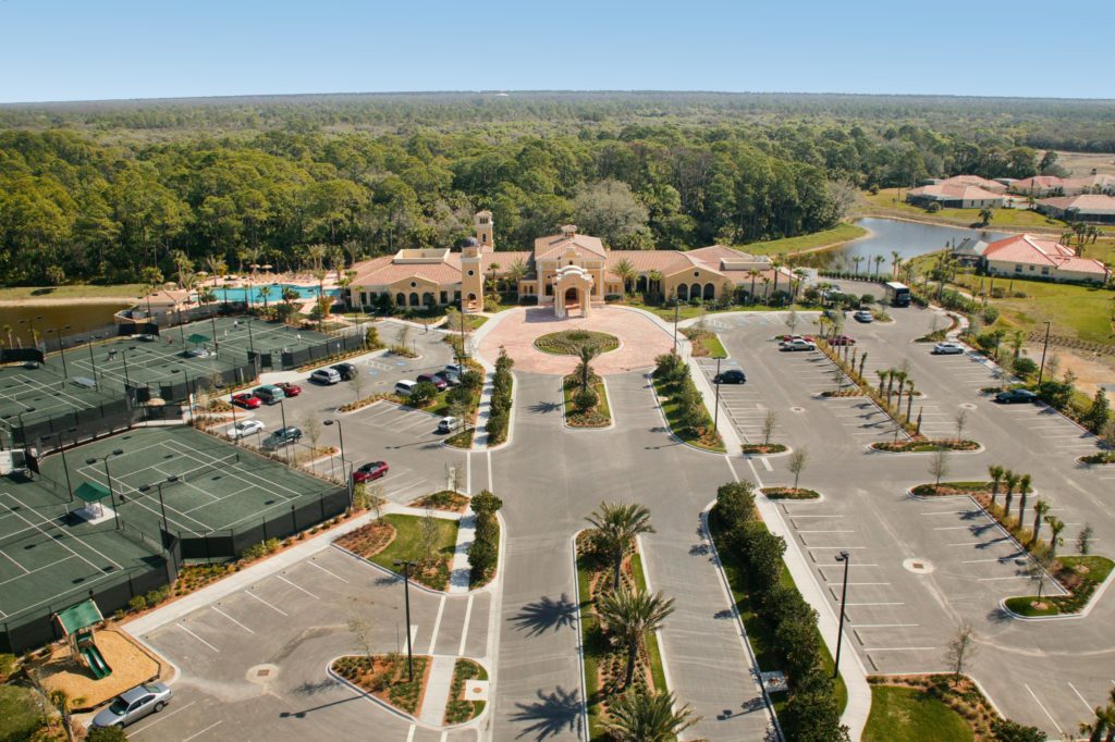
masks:
<svg viewBox="0 0 1115 742"><path fill-rule="evenodd" d="M329 488L302 500L301 505L292 504L289 510L261 515L259 519L236 528L207 533L176 531L174 537L181 545L182 558L205 562L235 559L243 556L250 546L271 538L293 536L341 515L349 507L349 494L345 487Z"/></svg>

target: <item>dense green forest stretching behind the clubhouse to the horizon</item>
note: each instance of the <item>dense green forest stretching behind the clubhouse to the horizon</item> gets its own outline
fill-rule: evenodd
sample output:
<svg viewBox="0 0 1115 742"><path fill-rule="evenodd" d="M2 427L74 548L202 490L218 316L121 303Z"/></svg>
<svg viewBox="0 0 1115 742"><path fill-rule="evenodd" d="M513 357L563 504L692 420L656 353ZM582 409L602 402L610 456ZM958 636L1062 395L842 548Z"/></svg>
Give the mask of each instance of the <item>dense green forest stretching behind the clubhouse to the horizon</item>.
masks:
<svg viewBox="0 0 1115 742"><path fill-rule="evenodd" d="M566 222L617 248L746 244L830 227L859 188L957 173L1026 177L1039 167L1035 149L990 119L962 131L900 123L922 99L900 99L902 109L873 100L879 110L845 100L860 111L850 120L759 121L733 117L731 101L711 94L689 108L571 96L491 108L465 95L4 107L0 124L12 128L0 130L0 281L127 282L153 265L172 274L183 257L233 270L322 254L350 263L455 244L477 208L494 212L504 250L527 248ZM795 105L815 104L806 96ZM1063 107L1065 121L1109 124L1104 106ZM359 124L361 111L378 111L386 128L332 126L345 116ZM20 119L48 115L48 125ZM137 136L166 116L183 117L168 124L182 128Z"/></svg>

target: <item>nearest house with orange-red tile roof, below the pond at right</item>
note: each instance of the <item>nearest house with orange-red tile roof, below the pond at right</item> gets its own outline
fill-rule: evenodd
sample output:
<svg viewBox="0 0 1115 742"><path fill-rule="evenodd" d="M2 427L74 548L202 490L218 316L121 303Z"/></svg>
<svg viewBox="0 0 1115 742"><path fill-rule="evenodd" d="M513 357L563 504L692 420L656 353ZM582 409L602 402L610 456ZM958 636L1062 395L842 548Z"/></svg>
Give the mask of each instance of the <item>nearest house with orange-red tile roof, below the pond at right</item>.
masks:
<svg viewBox="0 0 1115 742"><path fill-rule="evenodd" d="M1017 234L992 242L983 252L990 275L1058 282L1106 283L1111 271L1101 261L1079 257L1051 237Z"/></svg>

